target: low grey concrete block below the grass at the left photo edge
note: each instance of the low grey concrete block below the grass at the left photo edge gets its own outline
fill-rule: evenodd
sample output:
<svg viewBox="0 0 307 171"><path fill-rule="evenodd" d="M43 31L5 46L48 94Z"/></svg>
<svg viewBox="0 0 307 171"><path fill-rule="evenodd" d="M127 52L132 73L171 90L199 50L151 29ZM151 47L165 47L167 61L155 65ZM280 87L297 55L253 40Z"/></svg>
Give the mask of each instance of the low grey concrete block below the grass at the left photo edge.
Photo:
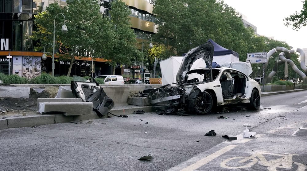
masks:
<svg viewBox="0 0 307 171"><path fill-rule="evenodd" d="M12 97L12 98L29 98L30 87L0 87L0 97Z"/></svg>

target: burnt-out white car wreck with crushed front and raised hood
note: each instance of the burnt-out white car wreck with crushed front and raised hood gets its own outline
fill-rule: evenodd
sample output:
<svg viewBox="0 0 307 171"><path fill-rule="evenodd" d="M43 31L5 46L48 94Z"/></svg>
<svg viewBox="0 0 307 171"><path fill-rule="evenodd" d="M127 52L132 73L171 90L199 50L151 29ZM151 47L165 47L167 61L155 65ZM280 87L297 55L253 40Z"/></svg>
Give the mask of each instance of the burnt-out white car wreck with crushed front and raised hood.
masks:
<svg viewBox="0 0 307 171"><path fill-rule="evenodd" d="M177 83L173 83L176 86L164 85L151 91L148 96L150 104L166 115L207 114L217 106L230 104L257 110L261 89L248 77L252 72L251 65L233 62L212 68L213 49L211 42L191 49L182 60ZM191 69L200 58L207 67Z"/></svg>

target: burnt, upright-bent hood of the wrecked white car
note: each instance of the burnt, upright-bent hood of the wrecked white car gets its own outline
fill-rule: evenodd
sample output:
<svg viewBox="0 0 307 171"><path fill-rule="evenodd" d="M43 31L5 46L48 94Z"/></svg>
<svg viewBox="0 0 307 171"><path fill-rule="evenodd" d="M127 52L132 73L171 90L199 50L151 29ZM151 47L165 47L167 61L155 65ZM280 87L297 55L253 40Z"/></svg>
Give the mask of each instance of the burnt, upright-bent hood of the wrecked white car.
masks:
<svg viewBox="0 0 307 171"><path fill-rule="evenodd" d="M191 49L182 59L181 65L177 72L176 81L178 84L186 83L188 80L188 71L190 71L193 63L203 58L207 67L211 70L213 60L214 46L211 42L206 42L203 45Z"/></svg>

